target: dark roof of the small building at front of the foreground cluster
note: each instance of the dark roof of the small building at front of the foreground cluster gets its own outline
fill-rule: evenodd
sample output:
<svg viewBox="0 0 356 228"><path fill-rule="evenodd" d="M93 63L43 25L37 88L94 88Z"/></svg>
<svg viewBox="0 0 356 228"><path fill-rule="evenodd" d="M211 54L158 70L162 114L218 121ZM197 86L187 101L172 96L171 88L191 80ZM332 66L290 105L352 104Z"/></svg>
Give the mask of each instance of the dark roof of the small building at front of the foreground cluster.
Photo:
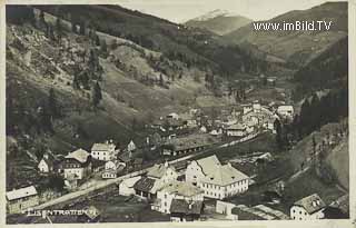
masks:
<svg viewBox="0 0 356 228"><path fill-rule="evenodd" d="M191 207L189 208L189 205ZM200 215L202 210L202 201L187 201L185 199L172 199L170 212L179 212L186 215Z"/></svg>

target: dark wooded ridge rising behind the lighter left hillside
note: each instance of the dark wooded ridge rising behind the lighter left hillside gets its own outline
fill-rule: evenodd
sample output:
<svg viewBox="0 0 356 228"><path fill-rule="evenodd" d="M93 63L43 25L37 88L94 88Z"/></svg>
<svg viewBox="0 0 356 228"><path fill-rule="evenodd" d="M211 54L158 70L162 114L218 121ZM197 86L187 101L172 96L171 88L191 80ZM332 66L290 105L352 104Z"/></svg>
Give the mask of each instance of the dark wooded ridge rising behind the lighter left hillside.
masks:
<svg viewBox="0 0 356 228"><path fill-rule="evenodd" d="M156 18L119 6L36 6L79 26L128 39L139 46L161 52L170 60L179 60L200 69L221 75L228 68L229 75L240 71L244 62L251 62L249 56L235 48L231 52L220 37L207 30ZM211 51L214 50L214 51ZM221 61L216 50L224 52L231 61ZM222 69L222 70L221 70Z"/></svg>

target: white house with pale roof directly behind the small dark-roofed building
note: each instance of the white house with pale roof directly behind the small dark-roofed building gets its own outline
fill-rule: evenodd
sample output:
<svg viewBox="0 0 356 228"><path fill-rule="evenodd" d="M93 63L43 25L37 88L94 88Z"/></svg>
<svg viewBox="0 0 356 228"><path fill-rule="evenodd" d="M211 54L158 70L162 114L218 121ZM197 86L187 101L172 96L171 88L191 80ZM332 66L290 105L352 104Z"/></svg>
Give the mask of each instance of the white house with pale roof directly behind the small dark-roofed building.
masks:
<svg viewBox="0 0 356 228"><path fill-rule="evenodd" d="M171 181L157 190L157 199L151 209L164 214L170 214L170 207L174 199L187 201L202 201L204 191L189 182Z"/></svg>

